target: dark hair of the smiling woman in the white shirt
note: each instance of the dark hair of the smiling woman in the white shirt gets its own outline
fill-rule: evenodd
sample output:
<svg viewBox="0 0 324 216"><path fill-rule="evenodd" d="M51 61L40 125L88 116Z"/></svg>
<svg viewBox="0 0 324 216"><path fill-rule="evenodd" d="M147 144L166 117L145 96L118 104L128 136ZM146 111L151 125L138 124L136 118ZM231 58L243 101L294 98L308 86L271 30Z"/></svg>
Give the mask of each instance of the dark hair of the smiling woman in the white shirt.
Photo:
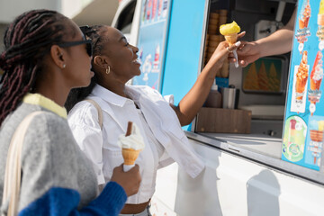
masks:
<svg viewBox="0 0 324 216"><path fill-rule="evenodd" d="M86 40L92 40L93 44L93 57L99 56L102 54L103 47L105 42L107 41L106 37L103 37L104 33L107 31L105 25L94 25L94 26L83 26L80 27L81 31L85 34ZM86 87L73 88L67 96L67 101L65 103L65 107L67 112L69 112L73 106L84 100L94 89L94 85L98 80L98 72L94 69L94 58L91 61L92 71L94 72L94 76L91 78L90 85Z"/></svg>

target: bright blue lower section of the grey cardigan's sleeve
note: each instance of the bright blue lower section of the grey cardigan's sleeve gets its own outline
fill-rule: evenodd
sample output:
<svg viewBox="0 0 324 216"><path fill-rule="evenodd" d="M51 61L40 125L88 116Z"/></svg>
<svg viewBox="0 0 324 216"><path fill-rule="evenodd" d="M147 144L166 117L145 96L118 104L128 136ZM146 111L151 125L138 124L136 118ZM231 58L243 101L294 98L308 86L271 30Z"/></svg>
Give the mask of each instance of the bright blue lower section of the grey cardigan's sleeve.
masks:
<svg viewBox="0 0 324 216"><path fill-rule="evenodd" d="M80 195L75 190L67 188L51 188L35 202L31 202L26 208L19 212L19 216L52 215L52 216L117 216L127 195L120 184L109 182L103 192L87 206L77 210Z"/></svg>

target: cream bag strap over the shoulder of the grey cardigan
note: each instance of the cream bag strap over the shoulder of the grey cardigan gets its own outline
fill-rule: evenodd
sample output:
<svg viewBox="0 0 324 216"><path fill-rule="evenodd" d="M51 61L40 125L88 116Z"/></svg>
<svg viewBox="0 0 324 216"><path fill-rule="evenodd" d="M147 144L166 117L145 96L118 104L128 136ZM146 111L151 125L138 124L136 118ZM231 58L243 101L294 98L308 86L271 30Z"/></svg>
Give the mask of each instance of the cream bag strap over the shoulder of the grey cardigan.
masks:
<svg viewBox="0 0 324 216"><path fill-rule="evenodd" d="M4 194L2 205L8 204L7 216L17 215L22 178L23 139L32 119L42 111L31 112L14 131L8 149L4 172ZM8 203L9 202L9 203Z"/></svg>

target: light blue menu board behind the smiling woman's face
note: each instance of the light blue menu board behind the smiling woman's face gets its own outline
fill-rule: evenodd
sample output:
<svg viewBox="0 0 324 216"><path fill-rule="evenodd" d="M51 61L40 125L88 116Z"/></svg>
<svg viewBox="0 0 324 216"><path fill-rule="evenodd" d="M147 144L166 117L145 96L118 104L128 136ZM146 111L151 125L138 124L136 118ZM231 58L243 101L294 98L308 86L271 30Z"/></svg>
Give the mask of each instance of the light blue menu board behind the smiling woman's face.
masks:
<svg viewBox="0 0 324 216"><path fill-rule="evenodd" d="M161 90L170 7L171 0L142 1L138 41L141 74L133 78L133 85Z"/></svg>

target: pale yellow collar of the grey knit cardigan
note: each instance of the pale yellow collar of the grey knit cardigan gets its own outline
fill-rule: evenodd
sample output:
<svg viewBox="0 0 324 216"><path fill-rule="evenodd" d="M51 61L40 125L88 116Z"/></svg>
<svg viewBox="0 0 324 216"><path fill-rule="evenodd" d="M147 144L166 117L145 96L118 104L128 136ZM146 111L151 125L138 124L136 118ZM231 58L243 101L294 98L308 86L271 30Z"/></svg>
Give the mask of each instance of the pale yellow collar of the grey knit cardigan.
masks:
<svg viewBox="0 0 324 216"><path fill-rule="evenodd" d="M51 112L58 114L60 117L67 119L67 110L41 94L28 93L23 97L23 103L40 105Z"/></svg>

